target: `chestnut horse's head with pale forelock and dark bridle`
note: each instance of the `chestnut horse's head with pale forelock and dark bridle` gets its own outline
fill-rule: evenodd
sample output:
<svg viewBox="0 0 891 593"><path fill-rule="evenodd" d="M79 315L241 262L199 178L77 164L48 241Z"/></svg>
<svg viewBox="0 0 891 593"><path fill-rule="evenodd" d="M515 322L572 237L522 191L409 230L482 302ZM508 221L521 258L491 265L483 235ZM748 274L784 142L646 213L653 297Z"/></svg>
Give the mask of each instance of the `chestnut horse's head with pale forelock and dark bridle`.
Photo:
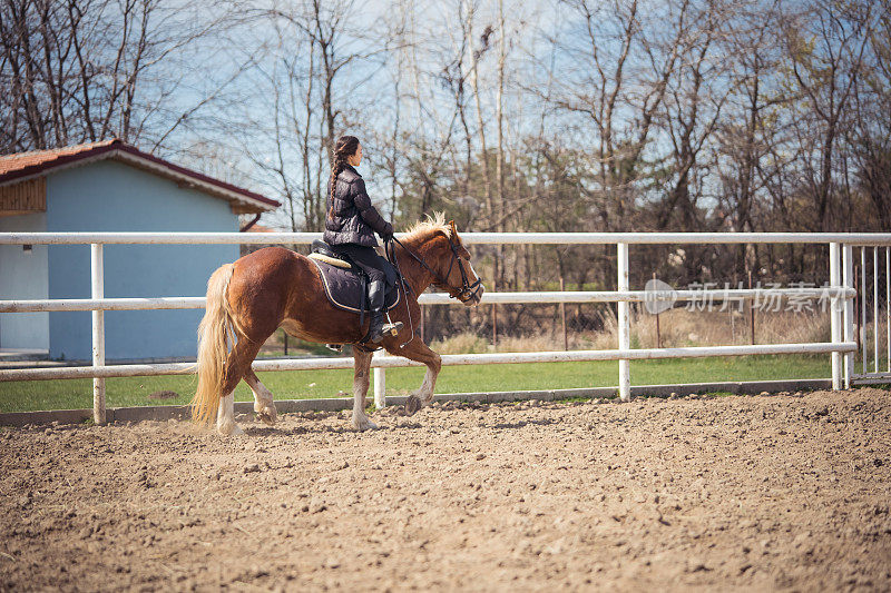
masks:
<svg viewBox="0 0 891 593"><path fill-rule="evenodd" d="M467 306L479 305L486 288L470 263L470 251L461 243L454 220L444 224L442 215L438 214L419 226L427 231L422 239L423 259L432 273L433 286Z"/></svg>

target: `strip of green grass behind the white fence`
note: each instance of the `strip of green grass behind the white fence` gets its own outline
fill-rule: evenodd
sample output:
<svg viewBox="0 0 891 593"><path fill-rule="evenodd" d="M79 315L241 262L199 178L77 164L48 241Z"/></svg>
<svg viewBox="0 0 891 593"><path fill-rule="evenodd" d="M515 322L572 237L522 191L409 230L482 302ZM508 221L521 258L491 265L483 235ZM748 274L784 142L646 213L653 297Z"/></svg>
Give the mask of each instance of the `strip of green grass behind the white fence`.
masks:
<svg viewBox="0 0 891 593"><path fill-rule="evenodd" d="M423 368L392 368L386 372L386 393L404 395L421 384ZM631 363L631 384L709 383L823 378L831 375L829 356L738 356L686 358ZM261 380L276 399L337 397L351 393L352 370L295 370L261 373ZM503 392L615 386L616 362L530 363L443 367L437 393ZM194 376L127 377L106 380L108 407L186 404L195 392ZM169 389L175 399L149 399ZM342 396L342 395L340 395ZM253 401L244 383L235 391L239 402ZM35 380L0 383L0 412L74 409L92 407L92 380Z"/></svg>

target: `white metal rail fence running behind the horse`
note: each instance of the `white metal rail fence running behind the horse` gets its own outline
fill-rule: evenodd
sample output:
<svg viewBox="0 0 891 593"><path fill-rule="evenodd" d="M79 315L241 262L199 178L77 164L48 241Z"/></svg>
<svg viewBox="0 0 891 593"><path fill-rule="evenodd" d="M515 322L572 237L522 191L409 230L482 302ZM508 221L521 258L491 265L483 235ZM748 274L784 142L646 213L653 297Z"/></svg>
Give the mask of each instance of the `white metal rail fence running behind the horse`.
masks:
<svg viewBox="0 0 891 593"><path fill-rule="evenodd" d="M245 235L238 233L0 233L0 245L90 245L91 298L89 299L41 299L0 300L0 313L22 312L92 312L92 366L62 368L20 368L0 370L0 382L41 380L94 377L94 416L97 423L105 422L105 379L109 377L179 375L194 372L194 364L140 364L106 365L105 325L106 310L134 309L189 309L203 308L204 297L156 297L156 298L105 298L102 246L112 244L144 245L212 245L212 244L284 244L309 245L320 238L314 233L275 233ZM618 360L618 391L621 399L630 395L630 360L649 358L684 358L701 356L742 356L752 354L831 354L833 388L850 386L852 380L862 378L854 370L854 306L856 294L853 278L853 246L891 246L891 234L844 234L844 233L466 233L462 235L469 245L616 245L618 261L617 290L605 291L546 291L546 293L487 293L482 304L513 303L618 303L618 344L613 350L575 350L538 353L497 353L444 355L443 365L511 364L567 360ZM630 290L628 284L629 245L654 244L829 244L830 286L821 288L783 289L712 289L677 290L669 296ZM865 249L865 248L864 248ZM878 249L875 251L878 254ZM888 256L888 250L885 250ZM877 256L878 257L878 256ZM877 264L878 266L878 264ZM878 268L877 268L878 269ZM874 275L878 277L878 274ZM822 296L831 299L832 338L829 343L771 344L748 346L708 346L682 348L630 348L630 318L628 303L646 299L672 298L692 300L740 300L757 297L771 290L780 297ZM863 288L865 290L865 288ZM878 288L877 288L878 290ZM888 290L888 287L887 287ZM424 305L458 304L444 294L424 294L420 302ZM877 299L878 303L878 299ZM863 305L865 307L865 304ZM878 307L878 304L875 305ZM864 309L865 310L865 309ZM877 309L878 312L878 309ZM865 315L865 314L864 314ZM875 314L878 319L878 313ZM878 329L877 329L878 335ZM891 329L889 329L891 345ZM878 340L878 338L877 338ZM861 340L865 348L865 339ZM877 342L878 372L878 342ZM842 355L844 357L842 358ZM864 350L865 359L865 350ZM889 369L891 369L891 358ZM843 362L843 363L842 363ZM254 363L254 369L264 370L309 370L325 368L351 368L352 358L312 359L263 359ZM385 405L385 375L389 367L415 365L410 360L392 356L374 356L374 398L378 406ZM875 378L875 377L870 377Z"/></svg>

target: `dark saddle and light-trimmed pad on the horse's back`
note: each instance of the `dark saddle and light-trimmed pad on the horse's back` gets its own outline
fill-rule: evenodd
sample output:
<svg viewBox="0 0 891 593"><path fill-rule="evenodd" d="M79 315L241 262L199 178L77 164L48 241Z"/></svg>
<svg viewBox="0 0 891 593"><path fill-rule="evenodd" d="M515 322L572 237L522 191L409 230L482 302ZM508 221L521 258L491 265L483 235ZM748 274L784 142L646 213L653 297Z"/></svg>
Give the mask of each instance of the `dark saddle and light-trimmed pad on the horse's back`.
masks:
<svg viewBox="0 0 891 593"><path fill-rule="evenodd" d="M314 240L312 253L307 256L322 275L325 296L331 304L341 309L360 314L360 324L365 312L371 310L368 299L368 277L346 256L336 254L323 240ZM389 265L389 263L388 263ZM388 271L389 275L389 270ZM395 283L394 283L395 284ZM399 305L399 290L394 285L384 295L384 310Z"/></svg>

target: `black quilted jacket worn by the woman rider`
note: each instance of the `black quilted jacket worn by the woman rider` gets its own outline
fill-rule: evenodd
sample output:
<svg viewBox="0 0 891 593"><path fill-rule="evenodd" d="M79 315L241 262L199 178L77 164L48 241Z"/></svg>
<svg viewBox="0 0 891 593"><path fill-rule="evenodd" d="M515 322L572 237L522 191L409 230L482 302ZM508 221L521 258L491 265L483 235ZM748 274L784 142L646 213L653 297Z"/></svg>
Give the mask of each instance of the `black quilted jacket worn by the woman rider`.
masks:
<svg viewBox="0 0 891 593"><path fill-rule="evenodd" d="M343 245L351 243L374 247L378 240L376 231L381 236L392 235L393 226L384 220L378 209L371 204L365 192L365 181L355 169L349 165L336 179L334 189L333 216L325 214L325 243ZM329 187L327 211L331 210L331 187Z"/></svg>

